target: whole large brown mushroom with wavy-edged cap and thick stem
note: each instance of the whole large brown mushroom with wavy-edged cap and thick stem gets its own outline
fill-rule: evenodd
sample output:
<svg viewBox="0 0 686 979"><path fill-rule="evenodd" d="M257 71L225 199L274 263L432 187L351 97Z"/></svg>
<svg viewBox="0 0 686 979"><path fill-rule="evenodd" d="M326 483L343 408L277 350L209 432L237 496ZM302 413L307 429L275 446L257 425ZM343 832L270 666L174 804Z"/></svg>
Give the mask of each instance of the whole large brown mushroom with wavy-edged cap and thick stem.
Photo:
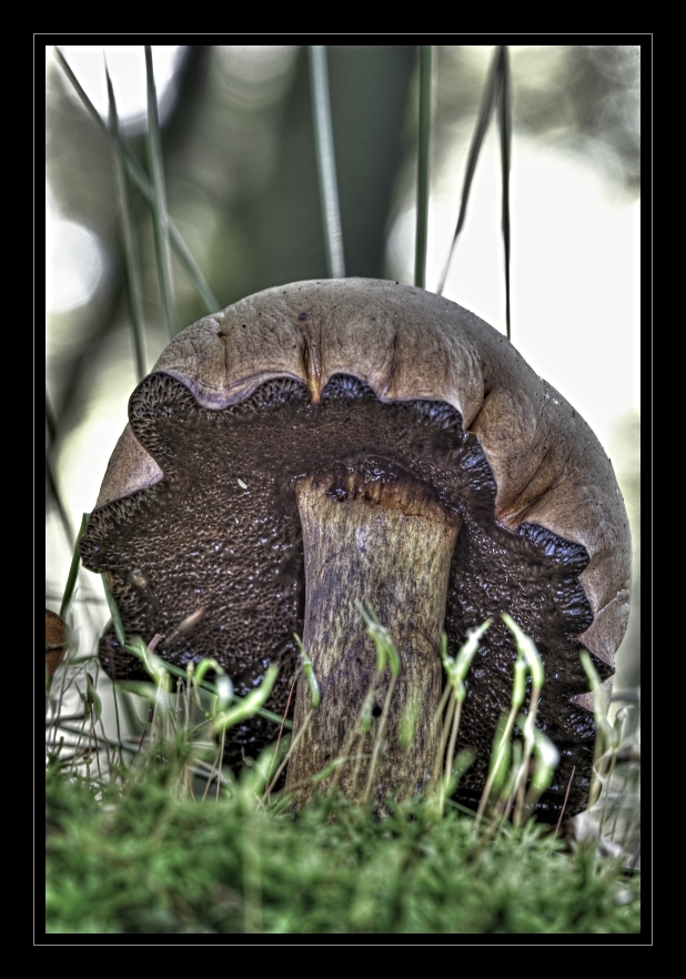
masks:
<svg viewBox="0 0 686 979"><path fill-rule="evenodd" d="M421 789L433 769L443 630L454 653L491 617L457 743L476 753L457 798L476 807L510 704L508 612L544 660L537 723L561 756L538 815L557 820L565 795L565 815L584 808L595 730L578 654L588 649L608 698L628 616L628 523L597 438L504 336L421 289L294 283L180 333L131 395L129 417L83 562L105 573L129 634L167 637L158 653L170 662L213 656L238 694L278 663L274 710L297 667L293 634L303 636L321 704L309 711L301 677L294 725L309 726L289 766L296 797L345 750L375 677L361 599L401 655L377 801ZM179 630L189 616L194 627ZM112 677L139 675L112 628L100 656ZM384 674L372 715L387 684ZM403 753L408 705L417 728ZM253 718L228 761L274 733Z"/></svg>

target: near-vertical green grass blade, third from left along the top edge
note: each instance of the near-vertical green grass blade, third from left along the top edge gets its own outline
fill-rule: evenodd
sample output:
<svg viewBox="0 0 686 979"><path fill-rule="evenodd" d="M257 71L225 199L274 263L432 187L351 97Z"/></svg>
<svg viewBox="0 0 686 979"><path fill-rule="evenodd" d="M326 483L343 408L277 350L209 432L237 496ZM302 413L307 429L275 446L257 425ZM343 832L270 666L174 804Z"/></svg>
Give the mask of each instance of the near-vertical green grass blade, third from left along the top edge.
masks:
<svg viewBox="0 0 686 979"><path fill-rule="evenodd" d="M162 300L162 311L164 312L164 319L167 321L169 339L173 340L176 335L176 314L174 311L171 258L169 254L169 216L167 213L167 191L164 188L162 135L160 133L158 92L154 83L152 48L150 44L145 44L145 80L148 84L148 165L150 166L152 185L154 188L152 226L154 230L154 245L158 259L158 279L160 282L160 299Z"/></svg>

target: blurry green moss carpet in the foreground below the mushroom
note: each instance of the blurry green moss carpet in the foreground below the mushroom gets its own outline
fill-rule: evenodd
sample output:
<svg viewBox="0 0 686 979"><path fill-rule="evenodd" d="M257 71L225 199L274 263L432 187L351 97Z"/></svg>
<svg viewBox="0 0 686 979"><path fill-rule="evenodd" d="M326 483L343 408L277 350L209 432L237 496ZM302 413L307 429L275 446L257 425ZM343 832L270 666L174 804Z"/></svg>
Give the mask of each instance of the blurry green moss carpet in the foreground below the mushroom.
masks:
<svg viewBox="0 0 686 979"><path fill-rule="evenodd" d="M97 801L48 773L49 932L632 933L639 878L533 824L475 844L473 821L417 803L384 820L315 800L259 810L243 778L219 803L164 775ZM281 807L283 808L283 806Z"/></svg>

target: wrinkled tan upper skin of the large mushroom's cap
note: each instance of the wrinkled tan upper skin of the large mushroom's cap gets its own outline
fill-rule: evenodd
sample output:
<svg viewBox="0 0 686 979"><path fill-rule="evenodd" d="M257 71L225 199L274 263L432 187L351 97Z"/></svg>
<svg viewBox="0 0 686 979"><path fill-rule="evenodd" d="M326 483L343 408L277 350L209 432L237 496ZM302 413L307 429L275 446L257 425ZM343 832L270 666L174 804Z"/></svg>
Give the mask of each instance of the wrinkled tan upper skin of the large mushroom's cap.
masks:
<svg viewBox="0 0 686 979"><path fill-rule="evenodd" d="M357 379L361 390L373 392L382 405L428 402L453 410L487 464L492 516L498 541L505 541L498 547L508 538L513 546L525 543L544 564L558 566L562 579L574 578L575 596L564 599L565 655L578 659L574 650L586 647L608 695L630 582L628 521L612 464L586 422L506 337L467 310L417 287L369 279L299 282L248 296L180 333L131 397L133 427L127 426L112 454L82 542L87 566L107 569L93 544L97 538L95 547L107 549L107 528L124 521L118 502L154 495L164 482L163 456L134 434L145 442L134 415L143 412L151 379L174 379L205 413L222 413L256 397L268 382L284 379L304 385L317 405L341 375ZM484 607L482 620L494 610L511 608ZM179 618L188 614L181 609ZM516 618L516 608L513 614ZM446 628L450 616L448 608ZM534 638L536 622L528 629L521 622ZM458 635L452 638L460 640ZM538 643L546 645L541 637ZM574 680L569 674L565 703L571 700L576 714L568 725L591 741L593 726L584 718L591 697L577 663L569 669ZM592 747L585 754L591 757ZM582 796L579 788L575 804L572 793L568 815L583 806Z"/></svg>

